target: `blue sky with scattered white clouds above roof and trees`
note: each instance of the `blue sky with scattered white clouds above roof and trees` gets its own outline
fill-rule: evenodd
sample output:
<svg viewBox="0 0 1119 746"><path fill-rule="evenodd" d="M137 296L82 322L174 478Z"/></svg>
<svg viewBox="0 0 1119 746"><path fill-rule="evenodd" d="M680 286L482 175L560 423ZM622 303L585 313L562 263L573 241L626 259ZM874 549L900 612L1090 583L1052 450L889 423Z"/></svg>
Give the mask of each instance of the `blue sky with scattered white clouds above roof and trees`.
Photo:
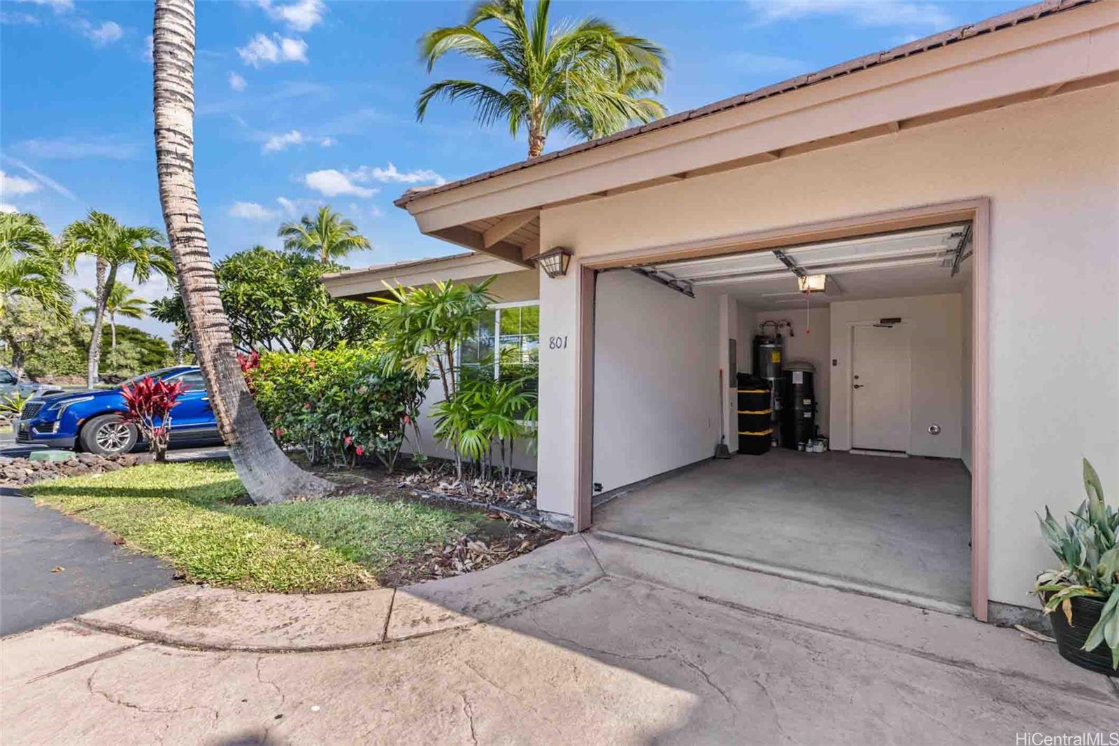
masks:
<svg viewBox="0 0 1119 746"><path fill-rule="evenodd" d="M590 15L670 55L670 112L887 48L1021 2L737 0L553 2L554 21ZM461 22L464 2L224 0L198 3L196 178L215 258L319 204L374 244L351 267L457 251L421 235L392 202L524 158L524 138L482 129L466 104L414 102L436 77L478 77L444 58L429 76L415 41ZM0 0L0 208L53 231L94 208L162 227L152 148L152 3ZM547 150L570 144L553 134ZM74 283L91 285L88 263ZM167 293L162 282L140 289ZM148 319L140 326L167 330Z"/></svg>

